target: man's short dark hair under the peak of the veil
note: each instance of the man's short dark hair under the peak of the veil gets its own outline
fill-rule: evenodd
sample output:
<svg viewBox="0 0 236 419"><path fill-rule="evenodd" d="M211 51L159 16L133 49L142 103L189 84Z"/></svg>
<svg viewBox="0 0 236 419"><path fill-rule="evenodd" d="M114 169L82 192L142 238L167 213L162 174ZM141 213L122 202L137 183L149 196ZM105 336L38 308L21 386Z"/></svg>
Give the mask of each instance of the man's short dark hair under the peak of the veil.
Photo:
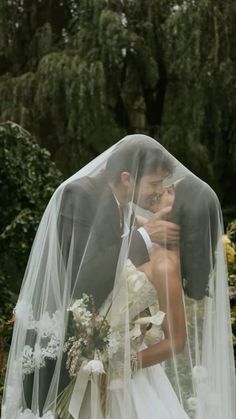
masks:
<svg viewBox="0 0 236 419"><path fill-rule="evenodd" d="M115 147L107 161L106 176L109 182L115 183L120 180L122 172L129 172L138 182L158 169L171 174L174 171L173 159L154 140L131 138Z"/></svg>

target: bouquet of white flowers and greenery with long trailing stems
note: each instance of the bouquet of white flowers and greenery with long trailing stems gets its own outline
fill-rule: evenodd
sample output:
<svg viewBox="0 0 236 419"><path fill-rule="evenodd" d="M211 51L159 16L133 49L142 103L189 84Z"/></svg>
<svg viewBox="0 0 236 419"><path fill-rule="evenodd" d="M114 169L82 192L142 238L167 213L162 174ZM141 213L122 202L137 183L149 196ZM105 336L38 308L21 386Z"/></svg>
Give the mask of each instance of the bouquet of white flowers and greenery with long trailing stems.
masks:
<svg viewBox="0 0 236 419"><path fill-rule="evenodd" d="M68 311L72 313L72 321L69 323L69 337L65 342L64 352L67 354L66 368L71 382L58 396L56 409L59 418L63 419L71 417L68 409L76 381L81 381L80 387L84 387L85 392L91 376L106 373L108 358L116 352L119 345L106 315L99 315L92 296L83 294Z"/></svg>

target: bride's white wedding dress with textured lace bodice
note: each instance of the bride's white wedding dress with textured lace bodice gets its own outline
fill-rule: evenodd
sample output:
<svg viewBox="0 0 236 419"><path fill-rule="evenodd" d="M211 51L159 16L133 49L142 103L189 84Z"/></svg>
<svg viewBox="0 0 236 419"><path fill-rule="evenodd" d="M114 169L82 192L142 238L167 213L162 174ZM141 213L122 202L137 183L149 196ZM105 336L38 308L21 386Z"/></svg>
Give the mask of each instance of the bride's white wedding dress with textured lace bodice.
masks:
<svg viewBox="0 0 236 419"><path fill-rule="evenodd" d="M133 324L130 330L131 346L135 350L141 350L163 338L161 323L165 314L159 310L155 288L147 276L143 272L138 271L130 260L126 262L123 275L127 280L129 318ZM142 298L140 298L140 294ZM109 303L108 297L102 313L106 312ZM153 315L137 318L147 307L150 308ZM136 318L137 320L134 320ZM151 330L147 331L141 340L140 323L152 323ZM109 419L120 419L122 417L123 392L119 379L110 383L109 390L112 397L112 413ZM160 364L140 369L134 373L130 390L132 406L130 419L189 419L176 396L164 368Z"/></svg>

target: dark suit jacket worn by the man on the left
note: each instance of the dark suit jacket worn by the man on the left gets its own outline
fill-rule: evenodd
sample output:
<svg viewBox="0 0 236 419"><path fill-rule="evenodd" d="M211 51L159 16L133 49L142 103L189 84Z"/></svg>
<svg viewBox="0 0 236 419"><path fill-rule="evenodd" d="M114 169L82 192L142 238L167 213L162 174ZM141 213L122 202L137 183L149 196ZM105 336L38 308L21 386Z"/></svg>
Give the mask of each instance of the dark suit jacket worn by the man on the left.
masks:
<svg viewBox="0 0 236 419"><path fill-rule="evenodd" d="M112 290L122 242L120 212L104 174L66 186L60 210L62 254L72 256L74 297L92 294L97 306ZM131 224L135 225L134 217ZM71 254L70 254L71 252ZM129 258L139 266L149 260L144 240L132 229Z"/></svg>

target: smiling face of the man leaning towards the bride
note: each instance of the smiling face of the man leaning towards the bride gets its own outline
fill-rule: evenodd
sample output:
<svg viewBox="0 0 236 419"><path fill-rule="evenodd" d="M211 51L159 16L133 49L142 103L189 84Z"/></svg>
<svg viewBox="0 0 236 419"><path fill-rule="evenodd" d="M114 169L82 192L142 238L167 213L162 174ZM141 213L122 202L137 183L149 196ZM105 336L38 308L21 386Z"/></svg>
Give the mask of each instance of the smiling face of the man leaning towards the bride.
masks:
<svg viewBox="0 0 236 419"><path fill-rule="evenodd" d="M167 176L168 173L160 169L143 176L135 185L134 202L142 208L150 209L157 194L164 192L163 181Z"/></svg>

